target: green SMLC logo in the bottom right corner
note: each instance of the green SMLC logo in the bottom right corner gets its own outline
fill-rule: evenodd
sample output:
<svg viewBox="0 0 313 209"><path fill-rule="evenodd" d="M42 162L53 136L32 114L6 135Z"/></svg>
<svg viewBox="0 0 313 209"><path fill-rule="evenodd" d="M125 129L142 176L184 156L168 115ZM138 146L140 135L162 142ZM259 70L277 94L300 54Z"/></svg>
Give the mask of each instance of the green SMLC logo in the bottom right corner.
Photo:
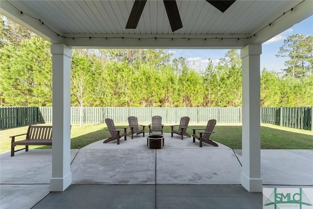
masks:
<svg viewBox="0 0 313 209"><path fill-rule="evenodd" d="M277 188L274 188L274 191L269 195L264 206L274 205L274 209L277 209L277 205L279 204L296 204L300 206L300 209L302 209L302 205L312 206L312 203L302 191L302 188L299 188L299 193L277 193Z"/></svg>

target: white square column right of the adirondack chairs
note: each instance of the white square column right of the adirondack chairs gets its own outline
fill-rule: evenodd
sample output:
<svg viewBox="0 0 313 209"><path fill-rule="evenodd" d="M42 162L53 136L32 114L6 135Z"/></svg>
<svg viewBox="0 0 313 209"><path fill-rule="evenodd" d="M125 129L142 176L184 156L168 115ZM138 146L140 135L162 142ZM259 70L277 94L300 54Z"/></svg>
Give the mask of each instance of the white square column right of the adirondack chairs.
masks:
<svg viewBox="0 0 313 209"><path fill-rule="evenodd" d="M260 124L261 45L241 49L243 66L243 133L241 184L250 192L262 192Z"/></svg>

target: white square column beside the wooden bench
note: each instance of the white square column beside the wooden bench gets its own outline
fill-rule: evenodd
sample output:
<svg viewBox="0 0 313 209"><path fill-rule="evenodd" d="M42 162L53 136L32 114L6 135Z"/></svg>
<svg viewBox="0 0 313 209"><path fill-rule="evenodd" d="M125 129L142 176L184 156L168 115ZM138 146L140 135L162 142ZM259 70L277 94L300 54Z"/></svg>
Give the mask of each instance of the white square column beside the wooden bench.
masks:
<svg viewBox="0 0 313 209"><path fill-rule="evenodd" d="M50 191L64 191L70 172L70 58L72 49L52 44L52 178Z"/></svg>

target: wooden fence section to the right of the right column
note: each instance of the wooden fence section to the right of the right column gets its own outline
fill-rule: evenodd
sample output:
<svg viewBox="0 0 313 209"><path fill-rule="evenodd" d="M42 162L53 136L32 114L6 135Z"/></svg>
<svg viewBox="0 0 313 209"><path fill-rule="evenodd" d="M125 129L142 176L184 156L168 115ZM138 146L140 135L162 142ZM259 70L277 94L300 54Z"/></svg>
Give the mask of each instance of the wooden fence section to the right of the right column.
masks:
<svg viewBox="0 0 313 209"><path fill-rule="evenodd" d="M291 128L313 130L312 107L264 107L261 122Z"/></svg>

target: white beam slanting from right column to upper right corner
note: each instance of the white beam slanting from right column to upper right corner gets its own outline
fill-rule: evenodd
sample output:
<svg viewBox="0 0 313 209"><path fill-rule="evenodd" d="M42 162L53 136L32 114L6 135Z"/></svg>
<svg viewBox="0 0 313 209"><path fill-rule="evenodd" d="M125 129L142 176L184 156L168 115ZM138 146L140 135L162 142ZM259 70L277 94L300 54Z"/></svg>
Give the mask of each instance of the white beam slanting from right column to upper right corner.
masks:
<svg viewBox="0 0 313 209"><path fill-rule="evenodd" d="M289 4L288 7L284 7L284 9L282 9L281 12L277 13L277 16L273 17L271 22L273 22L280 15L284 14L284 12L286 12L286 14L278 18L273 23L271 22L264 23L255 31L253 31L253 33L251 33L251 36L253 36L254 34L256 35L255 37L252 37L251 39L249 39L249 44L263 44L264 42L268 41L274 36L292 27L294 24L299 23L305 20L306 18L312 16L313 15L313 0L305 0L301 3L300 2L301 1L292 1L292 4ZM297 4L299 5L296 6ZM293 11L289 11L291 8L293 8ZM269 23L271 23L271 25L269 25Z"/></svg>

